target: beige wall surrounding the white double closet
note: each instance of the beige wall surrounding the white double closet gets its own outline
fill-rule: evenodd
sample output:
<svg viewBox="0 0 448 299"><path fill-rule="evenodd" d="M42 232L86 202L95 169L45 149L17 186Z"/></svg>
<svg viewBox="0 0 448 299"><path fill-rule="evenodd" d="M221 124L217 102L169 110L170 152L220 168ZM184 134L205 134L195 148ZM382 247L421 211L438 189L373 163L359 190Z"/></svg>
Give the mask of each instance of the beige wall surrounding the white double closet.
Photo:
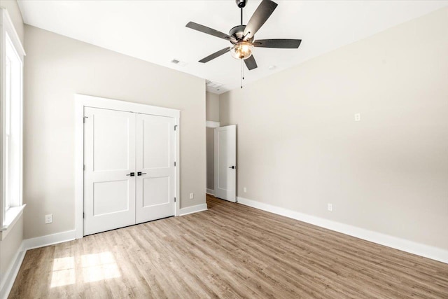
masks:
<svg viewBox="0 0 448 299"><path fill-rule="evenodd" d="M26 238L74 229L76 93L180 109L181 207L205 202L203 79L36 27L25 43Z"/></svg>

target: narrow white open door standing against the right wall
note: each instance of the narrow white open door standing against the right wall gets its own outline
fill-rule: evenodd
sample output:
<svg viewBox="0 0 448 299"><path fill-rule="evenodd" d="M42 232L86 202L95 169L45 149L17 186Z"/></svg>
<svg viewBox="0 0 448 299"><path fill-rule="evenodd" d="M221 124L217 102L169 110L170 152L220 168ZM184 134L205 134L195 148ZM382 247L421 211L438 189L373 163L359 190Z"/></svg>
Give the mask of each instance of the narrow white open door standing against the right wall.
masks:
<svg viewBox="0 0 448 299"><path fill-rule="evenodd" d="M237 201L237 125L215 129L215 196Z"/></svg>

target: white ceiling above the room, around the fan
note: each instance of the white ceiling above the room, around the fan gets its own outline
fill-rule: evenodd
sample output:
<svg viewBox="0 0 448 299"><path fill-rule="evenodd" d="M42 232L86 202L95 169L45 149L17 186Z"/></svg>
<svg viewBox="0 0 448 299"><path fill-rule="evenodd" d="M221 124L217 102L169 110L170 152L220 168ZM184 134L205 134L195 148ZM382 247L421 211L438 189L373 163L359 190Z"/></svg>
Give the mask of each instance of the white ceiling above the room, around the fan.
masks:
<svg viewBox="0 0 448 299"><path fill-rule="evenodd" d="M239 8L225 1L18 1L26 24L118 53L222 83L222 93L239 88L240 65L227 53L197 62L230 43L188 29L189 21L228 33L239 25ZM302 39L299 49L255 48L258 69L245 84L293 67L407 20L448 1L276 1L279 6L255 39ZM248 0L244 24L260 1ZM181 64L172 64L172 60ZM269 69L269 66L275 66Z"/></svg>

